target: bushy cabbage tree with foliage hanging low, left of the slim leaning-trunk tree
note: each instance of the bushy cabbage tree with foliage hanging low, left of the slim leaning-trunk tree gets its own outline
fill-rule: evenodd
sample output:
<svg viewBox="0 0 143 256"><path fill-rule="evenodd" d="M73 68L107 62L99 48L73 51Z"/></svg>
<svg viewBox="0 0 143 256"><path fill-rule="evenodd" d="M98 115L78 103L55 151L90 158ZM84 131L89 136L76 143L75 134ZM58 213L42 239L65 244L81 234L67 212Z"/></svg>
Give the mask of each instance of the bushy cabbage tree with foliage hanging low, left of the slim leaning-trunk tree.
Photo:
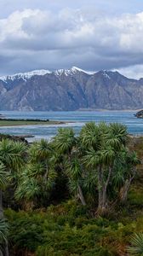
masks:
<svg viewBox="0 0 143 256"><path fill-rule="evenodd" d="M15 198L18 201L23 200L26 209L32 209L37 197L39 195L48 197L54 187L56 177L54 171L55 155L51 143L45 140L33 143L28 153L28 162L20 172Z"/></svg>

